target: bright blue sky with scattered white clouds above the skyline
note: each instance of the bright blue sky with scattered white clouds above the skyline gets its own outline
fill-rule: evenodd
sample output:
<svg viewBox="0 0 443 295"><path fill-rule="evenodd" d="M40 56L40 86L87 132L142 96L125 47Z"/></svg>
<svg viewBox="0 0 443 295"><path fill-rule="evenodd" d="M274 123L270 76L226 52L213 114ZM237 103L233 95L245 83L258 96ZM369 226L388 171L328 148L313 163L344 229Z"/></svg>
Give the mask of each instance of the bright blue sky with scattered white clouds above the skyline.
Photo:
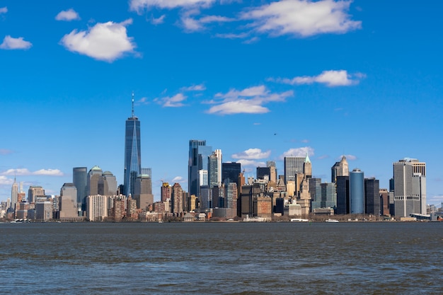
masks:
<svg viewBox="0 0 443 295"><path fill-rule="evenodd" d="M427 163L443 200L443 4L422 1L0 0L0 199L14 174L59 194L72 168L122 183L125 120L142 166L187 189L188 141L246 175L304 155L313 176L347 155L388 187Z"/></svg>

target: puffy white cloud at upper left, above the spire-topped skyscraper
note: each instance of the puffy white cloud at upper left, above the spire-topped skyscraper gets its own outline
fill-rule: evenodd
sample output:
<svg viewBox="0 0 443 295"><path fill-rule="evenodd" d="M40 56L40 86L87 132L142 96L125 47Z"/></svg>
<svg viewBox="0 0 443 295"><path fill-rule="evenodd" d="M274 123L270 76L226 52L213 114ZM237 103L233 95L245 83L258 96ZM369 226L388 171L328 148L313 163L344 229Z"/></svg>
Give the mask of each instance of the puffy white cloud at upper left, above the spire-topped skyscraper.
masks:
<svg viewBox="0 0 443 295"><path fill-rule="evenodd" d="M67 50L85 54L93 59L113 62L126 52L133 52L135 44L127 36L126 26L132 19L122 23L97 23L87 31L73 30L64 35L61 42Z"/></svg>

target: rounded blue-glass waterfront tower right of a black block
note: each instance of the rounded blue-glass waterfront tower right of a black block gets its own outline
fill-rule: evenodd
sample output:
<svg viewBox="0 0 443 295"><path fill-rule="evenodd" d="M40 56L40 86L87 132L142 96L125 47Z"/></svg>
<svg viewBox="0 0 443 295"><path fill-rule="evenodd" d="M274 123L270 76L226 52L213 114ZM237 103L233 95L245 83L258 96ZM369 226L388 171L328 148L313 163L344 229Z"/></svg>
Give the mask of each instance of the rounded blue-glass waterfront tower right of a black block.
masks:
<svg viewBox="0 0 443 295"><path fill-rule="evenodd" d="M364 214L364 173L355 168L349 175L350 214Z"/></svg>

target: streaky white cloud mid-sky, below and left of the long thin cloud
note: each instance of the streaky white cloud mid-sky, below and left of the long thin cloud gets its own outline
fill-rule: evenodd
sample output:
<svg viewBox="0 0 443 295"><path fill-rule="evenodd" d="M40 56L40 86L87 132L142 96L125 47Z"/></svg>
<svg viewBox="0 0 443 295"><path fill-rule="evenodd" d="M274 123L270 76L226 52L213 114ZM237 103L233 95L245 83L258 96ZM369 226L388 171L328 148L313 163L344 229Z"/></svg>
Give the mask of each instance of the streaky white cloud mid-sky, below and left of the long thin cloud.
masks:
<svg viewBox="0 0 443 295"><path fill-rule="evenodd" d="M271 93L265 86L255 86L241 91L231 89L228 93L217 93L214 100L207 102L215 104L207 112L219 115L262 114L270 112L263 105L285 101L289 96L294 96L294 92Z"/></svg>

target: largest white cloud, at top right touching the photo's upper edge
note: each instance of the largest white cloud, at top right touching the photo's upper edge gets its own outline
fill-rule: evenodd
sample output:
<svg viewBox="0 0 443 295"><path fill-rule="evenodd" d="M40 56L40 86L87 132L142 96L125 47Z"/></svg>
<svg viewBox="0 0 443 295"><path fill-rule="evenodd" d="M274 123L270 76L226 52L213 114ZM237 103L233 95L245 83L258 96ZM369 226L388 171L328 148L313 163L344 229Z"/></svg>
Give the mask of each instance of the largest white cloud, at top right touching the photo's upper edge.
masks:
<svg viewBox="0 0 443 295"><path fill-rule="evenodd" d="M252 20L259 33L308 37L323 33L346 33L361 28L347 14L352 1L282 0L251 8L241 18Z"/></svg>

